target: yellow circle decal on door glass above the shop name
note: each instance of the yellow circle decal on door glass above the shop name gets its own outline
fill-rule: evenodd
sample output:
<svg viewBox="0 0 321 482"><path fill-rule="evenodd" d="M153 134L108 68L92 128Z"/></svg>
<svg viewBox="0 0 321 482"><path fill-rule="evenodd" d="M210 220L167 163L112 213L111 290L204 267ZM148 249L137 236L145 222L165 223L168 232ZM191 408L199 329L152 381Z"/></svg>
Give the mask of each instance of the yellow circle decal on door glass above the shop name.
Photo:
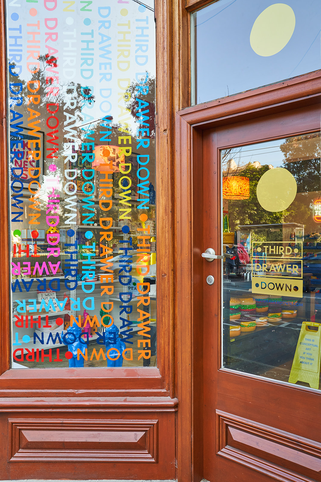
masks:
<svg viewBox="0 0 321 482"><path fill-rule="evenodd" d="M257 183L257 201L266 211L284 211L294 201L296 189L295 178L287 169L269 169Z"/></svg>

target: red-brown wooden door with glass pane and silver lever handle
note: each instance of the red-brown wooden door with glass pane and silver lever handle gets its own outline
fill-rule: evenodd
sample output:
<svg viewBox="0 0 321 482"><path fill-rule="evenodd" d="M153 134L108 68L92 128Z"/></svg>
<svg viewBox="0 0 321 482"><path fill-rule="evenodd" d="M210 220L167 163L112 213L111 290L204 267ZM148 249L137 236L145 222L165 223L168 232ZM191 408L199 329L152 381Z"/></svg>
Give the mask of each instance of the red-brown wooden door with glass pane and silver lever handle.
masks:
<svg viewBox="0 0 321 482"><path fill-rule="evenodd" d="M321 329L318 313L315 314L319 294L314 293L318 288L320 265L314 261L316 269L313 268L310 259L311 254L315 260L319 256L320 224L313 218L311 202L321 194L320 154L315 156L318 165L313 180L308 181L308 168L302 170L307 162L302 161L303 154L294 154L292 150L290 155L287 150L290 145L297 148L300 143L302 147L304 143L314 142L311 139L320 141L319 105L283 110L203 130L204 227L201 249L203 253L206 248L213 248L219 255L223 251L236 254L234 262L225 256L224 260L203 260L204 477L211 482L321 480L321 436L317 423L321 407L320 372L317 373L317 389L300 381L289 383L295 348L300 333L303 333L301 327L306 322L309 329L316 330L313 336ZM276 151L280 146L283 149L283 171L275 171L280 163L275 157L279 155ZM316 152L320 153L320 147ZM306 152L309 165L314 162L312 158ZM263 162L259 166L254 160L260 159ZM252 164L246 166L248 161ZM294 171L295 162L301 162L300 174ZM266 177L273 170L278 176L284 171L294 174L296 195L294 193L293 203L288 200L292 208L285 206L285 202L283 211L275 208L272 212L266 199L262 201L259 179L265 172ZM303 178L307 183L305 187L300 184ZM241 186L242 182L245 187ZM270 182L273 191L276 180ZM315 182L317 187L309 190L308 183ZM222 188L225 199L222 199ZM271 197L275 199L277 196L272 192ZM291 214L286 214L290 211ZM230 239L222 233L222 215L230 215ZM314 227L314 233L311 227ZM269 247L263 249L263 245ZM280 246L282 253L285 246L288 253L292 247L293 254L295 246L298 251L293 254L294 258L288 254L289 259L286 259L285 255L275 254L275 246L278 246L277 252ZM200 257L199 252L197 256ZM238 260L240 264L235 266ZM248 268L246 274L245 265ZM297 268L300 281L293 277L292 282L302 285L303 293L298 296L293 289L286 294L283 291L276 293L273 289L270 295L266 294L267 291L256 293L256 284L260 285L260 280L266 278L271 281L268 284L272 288L272 275L275 281L275 274L282 271L284 265L288 266L286 269L291 271L290 275L294 274L294 266L300 265ZM260 278L259 267L262 266L265 277ZM272 270L271 266L274 267ZM206 282L209 275L214 277L213 284ZM259 282L255 284L257 280ZM264 317L266 321L259 321ZM243 331L250 328L246 326L248 323L253 325L254 331ZM241 332L235 326L240 324ZM316 350L320 363L319 348ZM301 351L298 356L302 360L307 357L307 352L305 357ZM309 359L313 360L313 357ZM318 359L315 362L318 366ZM307 379L304 373L298 376L301 380Z"/></svg>

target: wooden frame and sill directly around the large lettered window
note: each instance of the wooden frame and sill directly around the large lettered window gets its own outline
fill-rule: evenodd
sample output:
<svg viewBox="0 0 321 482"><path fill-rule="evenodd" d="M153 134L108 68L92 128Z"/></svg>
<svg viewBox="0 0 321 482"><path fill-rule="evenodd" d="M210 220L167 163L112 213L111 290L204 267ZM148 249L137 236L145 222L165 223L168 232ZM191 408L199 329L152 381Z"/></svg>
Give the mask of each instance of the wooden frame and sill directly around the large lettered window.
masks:
<svg viewBox="0 0 321 482"><path fill-rule="evenodd" d="M165 9L164 9L165 7ZM164 40L162 24L169 31L167 11L169 4L156 0L155 16L160 18L160 26L156 30L157 59L160 64L157 69L158 119L169 122L168 103L164 103L162 90L167 90L167 79L164 77ZM6 56L5 46L5 0L0 0L0 51L2 58ZM168 47L168 45L167 45ZM168 75L168 72L167 72ZM0 204L2 212L2 227L0 230L0 249L5 260L0 277L0 395L3 397L39 397L39 396L141 396L141 397L171 397L174 399L174 273L173 273L173 205L172 205L172 165L164 161L170 159L171 147L167 145L164 134L160 134L156 124L156 223L157 231L162 233L157 242L157 367L119 367L119 368L29 368L10 369L11 334L9 314L11 312L10 283L10 250L9 250L9 200L7 172L7 98L6 98L6 64L2 62L0 69L0 178L2 186ZM165 95L169 95L167 91ZM164 112L165 111L165 112ZM161 114L161 115L160 115ZM157 122L157 120L156 120ZM163 126L163 133L170 130ZM160 302L161 299L161 302ZM94 380L94 383L93 383ZM93 388L94 385L94 388ZM177 402L177 401L176 401ZM176 403L175 402L175 403Z"/></svg>

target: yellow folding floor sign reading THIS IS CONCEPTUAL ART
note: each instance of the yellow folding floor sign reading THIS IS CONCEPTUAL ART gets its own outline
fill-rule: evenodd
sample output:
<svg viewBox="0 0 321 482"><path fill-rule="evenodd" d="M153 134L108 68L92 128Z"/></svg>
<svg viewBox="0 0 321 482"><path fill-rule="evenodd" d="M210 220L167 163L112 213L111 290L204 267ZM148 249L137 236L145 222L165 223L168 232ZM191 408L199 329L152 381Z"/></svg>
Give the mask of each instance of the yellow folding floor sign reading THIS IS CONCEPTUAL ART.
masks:
<svg viewBox="0 0 321 482"><path fill-rule="evenodd" d="M319 388L321 324L303 321L295 349L289 383L306 382Z"/></svg>

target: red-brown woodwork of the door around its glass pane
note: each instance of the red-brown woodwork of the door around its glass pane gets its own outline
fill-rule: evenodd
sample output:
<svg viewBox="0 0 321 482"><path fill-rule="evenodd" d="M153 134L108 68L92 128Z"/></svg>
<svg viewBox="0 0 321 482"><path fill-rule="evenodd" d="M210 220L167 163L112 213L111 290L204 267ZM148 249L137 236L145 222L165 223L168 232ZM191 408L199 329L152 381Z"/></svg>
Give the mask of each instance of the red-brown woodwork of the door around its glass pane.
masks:
<svg viewBox="0 0 321 482"><path fill-rule="evenodd" d="M265 98L266 92L262 95ZM233 120L242 116L228 113ZM300 101L295 106L291 100L288 111L282 108L271 113L262 107L262 115L256 118L203 130L204 249L213 247L217 253L221 249L219 150L319 129L320 104L315 97L307 106ZM320 393L220 369L221 274L219 263L209 265L205 264L204 278L213 274L218 282L212 290L204 286L205 478L218 477L220 482L253 478L257 482L321 481L321 435L315 419ZM215 420L216 410L228 413L228 421L223 415Z"/></svg>

